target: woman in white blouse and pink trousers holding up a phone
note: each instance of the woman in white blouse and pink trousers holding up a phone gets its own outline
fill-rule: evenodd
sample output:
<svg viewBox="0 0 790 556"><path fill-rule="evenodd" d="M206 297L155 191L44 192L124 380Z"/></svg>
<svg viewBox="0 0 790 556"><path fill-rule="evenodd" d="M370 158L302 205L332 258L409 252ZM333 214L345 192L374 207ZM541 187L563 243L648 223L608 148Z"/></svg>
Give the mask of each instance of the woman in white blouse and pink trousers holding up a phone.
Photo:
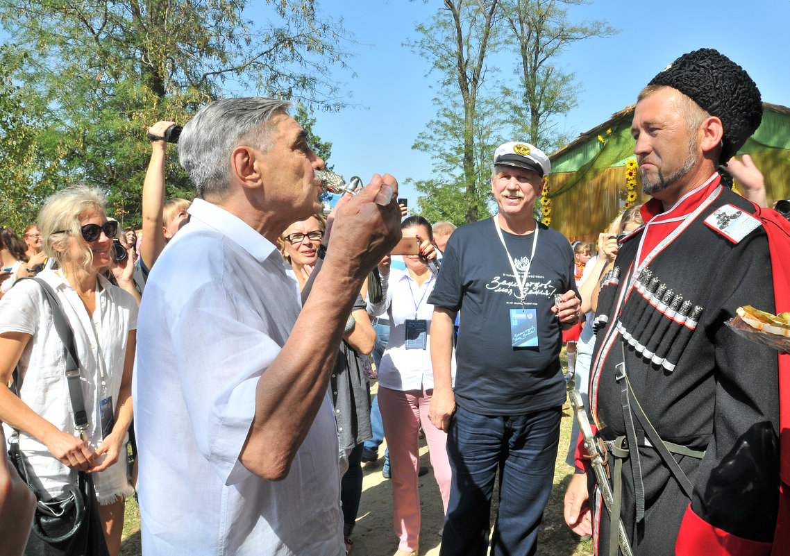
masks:
<svg viewBox="0 0 790 556"><path fill-rule="evenodd" d="M403 236L419 237L422 255L404 255L406 271L379 265L382 289L386 288L389 343L378 367L378 405L389 448L393 483L393 524L400 539L396 556L419 550L419 425L431 454L434 478L442 494L445 513L450 498L450 462L447 434L428 419L434 374L431 366L431 317L434 306L426 301L436 277L425 259L436 257L431 224L422 216L409 216L401 224ZM453 358L453 376L455 361Z"/></svg>

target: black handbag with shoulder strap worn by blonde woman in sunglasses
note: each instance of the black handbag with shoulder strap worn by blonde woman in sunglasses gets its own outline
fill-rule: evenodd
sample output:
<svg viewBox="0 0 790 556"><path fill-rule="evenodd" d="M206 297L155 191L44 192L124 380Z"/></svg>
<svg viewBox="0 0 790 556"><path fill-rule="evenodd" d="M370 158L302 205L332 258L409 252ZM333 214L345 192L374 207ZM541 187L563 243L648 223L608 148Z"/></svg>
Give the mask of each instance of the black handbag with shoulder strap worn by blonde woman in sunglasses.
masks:
<svg viewBox="0 0 790 556"><path fill-rule="evenodd" d="M74 423L77 430L84 433L88 426L88 415L85 412L85 400L80 385L73 332L55 297L55 291L40 278L30 280L36 280L43 287L44 296L51 306L55 330L63 342L66 354L66 378ZM14 374L16 375L16 372ZM14 377L15 387L16 382L17 376ZM24 548L25 556L109 556L92 476L85 471L79 471L77 482L73 484L68 494L43 501L41 494L32 487L26 458L19 449L18 431L14 432L9 446L9 459L28 488L36 495L37 500L32 532Z"/></svg>

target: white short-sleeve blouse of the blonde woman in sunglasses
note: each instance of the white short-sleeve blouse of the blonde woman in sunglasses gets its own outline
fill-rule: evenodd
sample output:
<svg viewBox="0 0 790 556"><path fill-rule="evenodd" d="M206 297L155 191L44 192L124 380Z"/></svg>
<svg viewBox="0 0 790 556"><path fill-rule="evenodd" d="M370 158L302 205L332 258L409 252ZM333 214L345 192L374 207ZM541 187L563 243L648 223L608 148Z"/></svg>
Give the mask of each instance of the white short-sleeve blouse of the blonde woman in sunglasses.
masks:
<svg viewBox="0 0 790 556"><path fill-rule="evenodd" d="M45 269L38 276L55 290L74 332L88 412L88 444L97 449L102 441L99 402L112 396L114 410L117 407L126 341L129 331L137 329L137 302L99 276L96 310L91 317L77 291L57 271ZM49 302L35 280L22 280L0 299L0 334L5 332L32 335L19 359L21 400L58 429L76 436L63 343L53 325ZM37 488L52 497L70 488L76 471L55 459L46 445L20 432L19 447L40 481Z"/></svg>

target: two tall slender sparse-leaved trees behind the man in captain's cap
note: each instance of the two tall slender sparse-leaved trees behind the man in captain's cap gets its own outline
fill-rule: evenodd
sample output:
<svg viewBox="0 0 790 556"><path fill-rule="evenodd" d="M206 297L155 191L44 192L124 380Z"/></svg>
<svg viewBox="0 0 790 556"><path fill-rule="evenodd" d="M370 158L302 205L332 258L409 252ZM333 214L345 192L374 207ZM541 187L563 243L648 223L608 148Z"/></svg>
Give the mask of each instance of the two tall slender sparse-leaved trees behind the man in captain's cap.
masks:
<svg viewBox="0 0 790 556"><path fill-rule="evenodd" d="M497 145L517 139L552 152L569 141L556 130L556 118L577 105L580 87L557 59L570 43L617 32L605 21L571 24L568 6L585 3L446 0L430 21L416 26L418 39L407 45L438 77L436 118L412 145L433 156L433 177L415 182L425 194L417 201L424 216L455 224L487 217ZM489 54L497 64L485 63ZM496 83L493 68L509 60L516 80Z"/></svg>

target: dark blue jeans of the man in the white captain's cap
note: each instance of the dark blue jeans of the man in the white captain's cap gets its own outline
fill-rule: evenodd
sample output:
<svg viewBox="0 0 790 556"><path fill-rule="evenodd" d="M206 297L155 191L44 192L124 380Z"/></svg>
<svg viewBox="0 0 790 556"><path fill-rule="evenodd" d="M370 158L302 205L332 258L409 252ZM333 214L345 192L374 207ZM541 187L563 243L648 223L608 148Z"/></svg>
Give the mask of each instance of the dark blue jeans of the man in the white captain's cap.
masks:
<svg viewBox="0 0 790 556"><path fill-rule="evenodd" d="M457 408L447 436L453 480L441 556L485 556L497 472L499 511L491 554L536 553L554 479L561 417L559 407L495 416Z"/></svg>

